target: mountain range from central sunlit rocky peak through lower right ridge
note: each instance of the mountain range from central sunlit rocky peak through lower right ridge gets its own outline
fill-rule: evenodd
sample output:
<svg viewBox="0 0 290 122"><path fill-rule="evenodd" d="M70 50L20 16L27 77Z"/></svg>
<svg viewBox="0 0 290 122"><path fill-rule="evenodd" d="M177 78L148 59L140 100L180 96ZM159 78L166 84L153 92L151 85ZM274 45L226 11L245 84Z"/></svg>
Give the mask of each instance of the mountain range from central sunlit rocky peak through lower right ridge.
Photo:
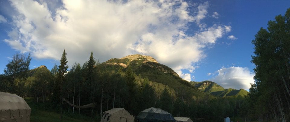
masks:
<svg viewBox="0 0 290 122"><path fill-rule="evenodd" d="M219 97L228 96L246 96L248 92L244 89L224 89L220 85L212 81L188 82L183 80L179 75L166 65L158 63L151 56L141 54L128 55L123 58L112 58L101 64L103 69L108 70L123 70L131 67L137 75L147 77L150 81L159 84L164 84L175 92L186 92L189 96L204 96L203 93L208 93Z"/></svg>

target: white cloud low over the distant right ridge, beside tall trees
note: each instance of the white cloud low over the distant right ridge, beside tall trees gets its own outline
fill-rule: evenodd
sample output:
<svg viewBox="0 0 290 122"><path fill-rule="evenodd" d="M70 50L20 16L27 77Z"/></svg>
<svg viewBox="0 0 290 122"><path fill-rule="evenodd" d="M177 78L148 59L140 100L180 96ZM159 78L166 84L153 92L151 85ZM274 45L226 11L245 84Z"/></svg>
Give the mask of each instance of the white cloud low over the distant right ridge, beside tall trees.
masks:
<svg viewBox="0 0 290 122"><path fill-rule="evenodd" d="M217 71L217 75L211 81L221 85L224 88L249 90L250 83L254 83L254 73L247 67L222 67Z"/></svg>

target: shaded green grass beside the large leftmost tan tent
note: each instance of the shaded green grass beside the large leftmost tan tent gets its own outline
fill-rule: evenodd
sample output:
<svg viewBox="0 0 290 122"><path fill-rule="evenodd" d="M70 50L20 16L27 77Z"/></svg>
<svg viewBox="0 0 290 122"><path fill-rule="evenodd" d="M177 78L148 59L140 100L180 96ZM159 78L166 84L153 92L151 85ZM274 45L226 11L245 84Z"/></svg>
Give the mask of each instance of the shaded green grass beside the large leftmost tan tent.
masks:
<svg viewBox="0 0 290 122"><path fill-rule="evenodd" d="M44 106L43 103L39 102L36 103L33 98L26 98L25 101L31 107L31 116L30 121L31 122L57 122L60 121L60 113L57 113L55 111L50 110L43 110L42 107ZM90 117L82 116L79 114L63 114L62 122L87 122L90 121ZM96 121L96 119L93 119Z"/></svg>

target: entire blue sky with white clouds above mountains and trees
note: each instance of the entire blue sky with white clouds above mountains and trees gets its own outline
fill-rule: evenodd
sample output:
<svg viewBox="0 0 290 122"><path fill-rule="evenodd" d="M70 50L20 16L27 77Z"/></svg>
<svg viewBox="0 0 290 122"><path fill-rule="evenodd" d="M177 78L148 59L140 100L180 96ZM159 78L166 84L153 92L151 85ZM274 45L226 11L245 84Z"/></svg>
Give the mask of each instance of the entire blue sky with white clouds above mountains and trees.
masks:
<svg viewBox="0 0 290 122"><path fill-rule="evenodd" d="M90 52L100 62L149 55L187 81L224 88L254 83L254 39L290 1L0 0L0 74L14 54L51 69L66 49L69 67Z"/></svg>

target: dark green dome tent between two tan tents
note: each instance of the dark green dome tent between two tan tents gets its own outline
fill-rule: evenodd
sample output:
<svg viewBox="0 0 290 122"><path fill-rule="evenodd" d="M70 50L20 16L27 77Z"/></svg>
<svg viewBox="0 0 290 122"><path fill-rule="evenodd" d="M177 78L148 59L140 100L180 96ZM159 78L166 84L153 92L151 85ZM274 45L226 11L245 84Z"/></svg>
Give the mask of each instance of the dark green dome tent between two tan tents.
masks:
<svg viewBox="0 0 290 122"><path fill-rule="evenodd" d="M154 107L141 111L135 119L137 122L176 122L170 113Z"/></svg>

